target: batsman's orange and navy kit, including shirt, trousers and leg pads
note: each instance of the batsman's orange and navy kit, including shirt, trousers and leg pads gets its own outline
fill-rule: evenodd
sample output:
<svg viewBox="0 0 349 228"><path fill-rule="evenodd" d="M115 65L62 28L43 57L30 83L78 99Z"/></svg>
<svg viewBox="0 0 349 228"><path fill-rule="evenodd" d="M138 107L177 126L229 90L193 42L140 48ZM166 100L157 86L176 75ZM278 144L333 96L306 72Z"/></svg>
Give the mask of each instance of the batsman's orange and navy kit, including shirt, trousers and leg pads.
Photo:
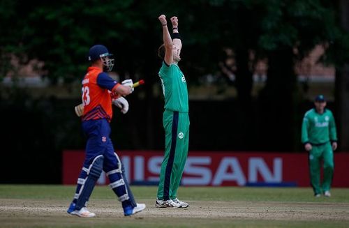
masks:
<svg viewBox="0 0 349 228"><path fill-rule="evenodd" d="M104 73L100 68L89 67L82 80L82 130L87 137L84 167L78 180L76 205L84 206L94 182L101 169L109 174L112 190L119 197L123 208L137 206L126 179L122 175L122 166L110 139L110 121L112 119L113 91L120 84ZM114 98L114 97L113 97ZM97 160L101 162L96 162ZM121 169L121 172L118 170ZM121 184L119 184L121 183ZM84 191L85 190L85 191ZM125 209L124 209L125 210Z"/></svg>

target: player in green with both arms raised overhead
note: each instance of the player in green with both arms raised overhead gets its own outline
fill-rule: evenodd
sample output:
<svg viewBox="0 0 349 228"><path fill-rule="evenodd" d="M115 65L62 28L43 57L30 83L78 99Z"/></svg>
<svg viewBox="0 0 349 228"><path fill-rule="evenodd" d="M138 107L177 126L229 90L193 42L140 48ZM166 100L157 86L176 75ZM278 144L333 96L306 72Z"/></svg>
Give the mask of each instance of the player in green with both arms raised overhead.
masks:
<svg viewBox="0 0 349 228"><path fill-rule="evenodd" d="M181 60L181 37L178 32L178 18L171 17L172 38L168 31L165 15L158 17L163 27L163 45L158 49L158 56L163 59L158 73L165 111L163 128L165 129L165 155L161 164L160 181L155 202L156 207L186 208L188 203L177 198L189 142L189 107L186 78L178 66Z"/></svg>

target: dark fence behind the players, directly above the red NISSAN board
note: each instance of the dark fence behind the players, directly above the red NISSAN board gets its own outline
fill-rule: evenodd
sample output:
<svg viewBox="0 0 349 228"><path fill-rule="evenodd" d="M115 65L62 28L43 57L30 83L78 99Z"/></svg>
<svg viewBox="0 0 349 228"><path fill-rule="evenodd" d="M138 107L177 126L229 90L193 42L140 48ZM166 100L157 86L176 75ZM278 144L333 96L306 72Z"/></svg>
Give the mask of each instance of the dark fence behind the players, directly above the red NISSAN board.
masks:
<svg viewBox="0 0 349 228"><path fill-rule="evenodd" d="M131 96L128 101L126 115L114 107L111 138L116 151L163 149L163 100ZM73 109L79 102L1 100L0 183L61 182L61 152L84 149L80 119ZM311 107L304 102L293 115L257 101L248 107L236 100L191 101L190 150L300 151L302 116Z"/></svg>

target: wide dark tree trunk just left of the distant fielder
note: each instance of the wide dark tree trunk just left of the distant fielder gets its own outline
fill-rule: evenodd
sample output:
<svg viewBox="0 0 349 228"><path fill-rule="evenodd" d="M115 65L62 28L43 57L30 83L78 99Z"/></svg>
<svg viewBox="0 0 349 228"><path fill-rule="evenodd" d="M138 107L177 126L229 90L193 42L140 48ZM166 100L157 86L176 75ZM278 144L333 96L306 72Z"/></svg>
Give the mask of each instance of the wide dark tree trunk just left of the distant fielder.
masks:
<svg viewBox="0 0 349 228"><path fill-rule="evenodd" d="M294 59L291 48L268 54L265 89L260 93L260 147L264 150L295 149ZM299 141L299 140L298 140Z"/></svg>

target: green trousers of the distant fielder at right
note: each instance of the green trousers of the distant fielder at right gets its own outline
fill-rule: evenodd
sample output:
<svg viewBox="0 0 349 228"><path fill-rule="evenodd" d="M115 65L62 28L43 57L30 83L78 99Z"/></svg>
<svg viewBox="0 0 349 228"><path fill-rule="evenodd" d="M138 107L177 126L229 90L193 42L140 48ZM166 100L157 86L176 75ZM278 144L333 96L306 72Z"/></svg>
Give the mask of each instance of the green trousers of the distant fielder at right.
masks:
<svg viewBox="0 0 349 228"><path fill-rule="evenodd" d="M320 181L321 164L323 162L323 178ZM313 146L309 152L309 171L314 195L321 194L331 188L334 172L333 151L330 142Z"/></svg>

